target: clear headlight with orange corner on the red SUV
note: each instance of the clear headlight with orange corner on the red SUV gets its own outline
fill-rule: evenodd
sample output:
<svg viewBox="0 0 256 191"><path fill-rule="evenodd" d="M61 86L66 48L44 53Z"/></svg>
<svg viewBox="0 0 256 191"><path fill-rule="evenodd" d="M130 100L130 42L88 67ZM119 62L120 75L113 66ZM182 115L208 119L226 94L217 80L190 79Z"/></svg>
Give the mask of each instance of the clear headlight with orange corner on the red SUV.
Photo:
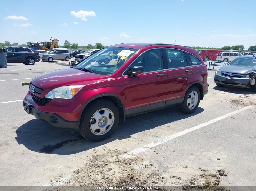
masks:
<svg viewBox="0 0 256 191"><path fill-rule="evenodd" d="M62 86L49 91L45 95L46 98L60 98L60 99L72 99L75 94L83 88L84 85L72 85L72 86Z"/></svg>

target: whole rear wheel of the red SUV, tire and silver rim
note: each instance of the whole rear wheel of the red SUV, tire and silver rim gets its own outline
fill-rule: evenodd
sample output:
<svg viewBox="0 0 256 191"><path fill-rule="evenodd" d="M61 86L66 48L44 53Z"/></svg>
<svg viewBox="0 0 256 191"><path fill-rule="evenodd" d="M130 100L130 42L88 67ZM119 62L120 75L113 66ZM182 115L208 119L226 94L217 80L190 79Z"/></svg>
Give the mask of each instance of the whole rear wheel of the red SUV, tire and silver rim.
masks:
<svg viewBox="0 0 256 191"><path fill-rule="evenodd" d="M181 111L183 113L194 113L200 102L200 91L197 87L188 88L184 100L181 103Z"/></svg>

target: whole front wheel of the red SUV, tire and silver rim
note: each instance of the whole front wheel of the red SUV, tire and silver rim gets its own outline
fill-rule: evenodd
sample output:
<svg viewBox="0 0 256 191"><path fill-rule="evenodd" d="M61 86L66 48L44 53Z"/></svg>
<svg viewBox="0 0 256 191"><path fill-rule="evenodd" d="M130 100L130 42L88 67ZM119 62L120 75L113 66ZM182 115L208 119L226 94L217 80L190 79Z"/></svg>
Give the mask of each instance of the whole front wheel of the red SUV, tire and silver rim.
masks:
<svg viewBox="0 0 256 191"><path fill-rule="evenodd" d="M84 110L79 132L90 141L102 141L117 129L119 111L116 105L105 99L90 103Z"/></svg>

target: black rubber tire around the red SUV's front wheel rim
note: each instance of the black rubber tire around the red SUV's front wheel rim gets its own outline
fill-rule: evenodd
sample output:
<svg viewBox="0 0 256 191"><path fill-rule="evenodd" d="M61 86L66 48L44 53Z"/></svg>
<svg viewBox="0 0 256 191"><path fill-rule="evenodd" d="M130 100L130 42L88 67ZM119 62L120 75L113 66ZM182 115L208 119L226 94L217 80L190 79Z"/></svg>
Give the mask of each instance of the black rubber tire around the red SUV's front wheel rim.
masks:
<svg viewBox="0 0 256 191"><path fill-rule="evenodd" d="M94 115L94 113L100 110L101 108L107 108L113 112L114 123L111 129L109 129L107 133L103 135L95 135L90 128L91 118ZM96 101L89 103L88 106L83 111L78 131L83 137L85 137L90 141L95 141L95 142L102 141L110 137L115 132L115 130L118 127L118 123L119 123L119 111L118 111L118 108L115 106L115 104L109 100L98 99Z"/></svg>

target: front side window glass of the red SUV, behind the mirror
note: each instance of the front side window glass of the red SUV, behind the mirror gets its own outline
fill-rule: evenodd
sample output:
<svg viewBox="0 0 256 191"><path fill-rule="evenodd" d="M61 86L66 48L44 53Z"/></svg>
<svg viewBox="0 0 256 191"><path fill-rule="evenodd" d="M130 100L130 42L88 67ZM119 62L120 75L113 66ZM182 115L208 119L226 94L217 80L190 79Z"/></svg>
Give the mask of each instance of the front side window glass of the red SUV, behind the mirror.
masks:
<svg viewBox="0 0 256 191"><path fill-rule="evenodd" d="M131 65L130 68L134 66L143 66L144 72L153 72L163 69L163 59L161 49L151 49L141 54ZM130 69L128 69L130 71Z"/></svg>

